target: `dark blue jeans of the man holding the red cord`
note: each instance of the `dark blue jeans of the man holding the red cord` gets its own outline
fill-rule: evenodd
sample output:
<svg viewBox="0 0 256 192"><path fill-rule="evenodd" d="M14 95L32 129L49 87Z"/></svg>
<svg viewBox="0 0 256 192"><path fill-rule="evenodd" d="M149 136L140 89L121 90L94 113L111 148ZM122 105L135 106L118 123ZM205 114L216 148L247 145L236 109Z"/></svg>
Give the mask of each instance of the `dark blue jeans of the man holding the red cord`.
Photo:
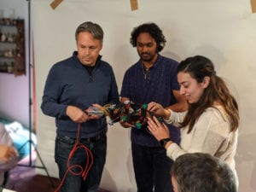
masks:
<svg viewBox="0 0 256 192"><path fill-rule="evenodd" d="M80 139L79 142L90 149L94 157L93 165L85 180L81 174L73 175L73 173L68 172L61 186L61 192L96 192L101 183L102 171L106 162L107 137L101 137L96 142L88 142L86 139ZM67 160L74 143L75 139L69 137L57 136L55 139L55 162L59 168L60 179L67 172ZM79 148L69 160L69 166L80 165L84 168L87 164L86 160L87 156L84 148ZM81 169L75 167L72 171L79 173Z"/></svg>

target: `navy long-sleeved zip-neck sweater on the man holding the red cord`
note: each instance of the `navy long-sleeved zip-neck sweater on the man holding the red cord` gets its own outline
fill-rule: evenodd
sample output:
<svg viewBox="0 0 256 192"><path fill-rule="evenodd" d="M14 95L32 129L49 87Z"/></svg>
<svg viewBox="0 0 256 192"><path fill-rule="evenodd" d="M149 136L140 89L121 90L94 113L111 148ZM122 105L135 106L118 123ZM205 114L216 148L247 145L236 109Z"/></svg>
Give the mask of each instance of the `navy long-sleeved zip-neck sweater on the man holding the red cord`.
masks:
<svg viewBox="0 0 256 192"><path fill-rule="evenodd" d="M64 61L57 62L49 70L44 86L41 109L44 114L55 117L57 134L61 136L77 136L78 124L69 119L67 106L75 106L82 110L93 103L105 105L119 102L119 93L112 67L101 60L89 74L77 58L77 51ZM91 119L81 124L81 138L95 137L107 128L106 117Z"/></svg>

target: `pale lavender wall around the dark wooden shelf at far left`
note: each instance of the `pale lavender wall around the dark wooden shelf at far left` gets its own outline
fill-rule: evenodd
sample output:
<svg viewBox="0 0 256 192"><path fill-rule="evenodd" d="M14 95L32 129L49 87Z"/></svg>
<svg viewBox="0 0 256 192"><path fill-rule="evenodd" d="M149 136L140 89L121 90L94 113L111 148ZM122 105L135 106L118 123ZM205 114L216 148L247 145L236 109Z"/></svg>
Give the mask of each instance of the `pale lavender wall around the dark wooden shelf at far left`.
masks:
<svg viewBox="0 0 256 192"><path fill-rule="evenodd" d="M25 19L27 30L27 2L26 0L1 0L0 12L9 17L15 10L15 18ZM25 30L27 40L27 31ZM1 44L0 44L1 46ZM27 55L27 44L26 44ZM28 91L28 63L26 61L26 75L15 77L15 74L0 73L0 117L17 120L21 124L29 125L29 91Z"/></svg>

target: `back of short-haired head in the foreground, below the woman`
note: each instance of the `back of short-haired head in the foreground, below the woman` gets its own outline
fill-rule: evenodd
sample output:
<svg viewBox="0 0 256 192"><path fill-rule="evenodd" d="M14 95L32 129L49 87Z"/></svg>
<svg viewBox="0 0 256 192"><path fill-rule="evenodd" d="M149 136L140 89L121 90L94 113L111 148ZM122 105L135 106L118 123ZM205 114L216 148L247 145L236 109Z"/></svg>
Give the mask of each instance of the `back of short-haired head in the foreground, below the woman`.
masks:
<svg viewBox="0 0 256 192"><path fill-rule="evenodd" d="M236 178L223 160L210 154L183 154L172 165L174 192L236 192Z"/></svg>

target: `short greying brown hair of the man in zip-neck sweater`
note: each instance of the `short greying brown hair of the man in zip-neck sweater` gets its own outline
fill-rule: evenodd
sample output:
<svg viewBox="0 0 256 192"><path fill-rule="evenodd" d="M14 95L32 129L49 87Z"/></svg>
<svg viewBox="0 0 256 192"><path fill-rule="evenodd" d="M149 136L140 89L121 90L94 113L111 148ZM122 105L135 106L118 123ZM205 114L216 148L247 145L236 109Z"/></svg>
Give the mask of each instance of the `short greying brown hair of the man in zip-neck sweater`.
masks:
<svg viewBox="0 0 256 192"><path fill-rule="evenodd" d="M87 22L80 24L75 33L76 41L78 40L78 36L79 36L80 32L90 32L92 34L93 38L96 38L96 39L100 40L101 42L103 42L104 32L102 30L102 27L96 23L87 21Z"/></svg>

